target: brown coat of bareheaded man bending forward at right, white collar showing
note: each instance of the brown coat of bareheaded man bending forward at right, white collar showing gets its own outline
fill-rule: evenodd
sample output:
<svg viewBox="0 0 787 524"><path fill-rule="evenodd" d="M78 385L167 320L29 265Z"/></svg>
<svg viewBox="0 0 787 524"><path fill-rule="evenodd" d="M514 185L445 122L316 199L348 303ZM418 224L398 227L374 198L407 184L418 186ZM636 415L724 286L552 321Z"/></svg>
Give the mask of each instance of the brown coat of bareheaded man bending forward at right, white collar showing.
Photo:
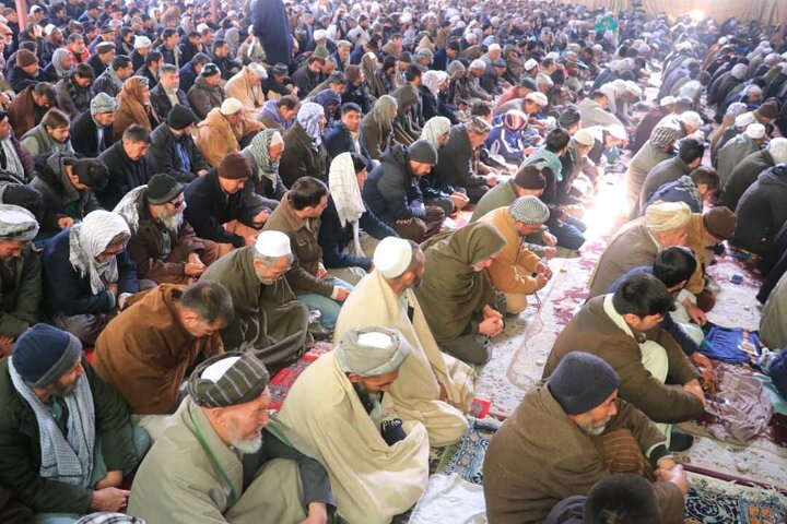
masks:
<svg viewBox="0 0 787 524"><path fill-rule="evenodd" d="M656 379L642 364L636 338L623 332L603 310L604 296L596 297L577 312L557 335L547 359L543 377L548 378L571 352L591 353L607 361L620 376L620 397L656 422L682 422L703 413L702 401L681 388L700 378L677 342L661 327L645 333L634 332L641 340L653 341L667 350L669 372L667 385Z"/></svg>

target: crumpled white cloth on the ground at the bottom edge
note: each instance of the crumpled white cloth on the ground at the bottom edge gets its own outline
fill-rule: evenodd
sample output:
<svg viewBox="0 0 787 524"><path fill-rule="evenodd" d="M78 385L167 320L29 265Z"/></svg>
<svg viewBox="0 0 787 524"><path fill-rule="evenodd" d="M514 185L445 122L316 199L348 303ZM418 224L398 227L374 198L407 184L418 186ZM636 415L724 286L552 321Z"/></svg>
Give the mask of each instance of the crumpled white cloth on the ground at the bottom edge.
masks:
<svg viewBox="0 0 787 524"><path fill-rule="evenodd" d="M483 486L456 473L432 475L409 524L486 524Z"/></svg>

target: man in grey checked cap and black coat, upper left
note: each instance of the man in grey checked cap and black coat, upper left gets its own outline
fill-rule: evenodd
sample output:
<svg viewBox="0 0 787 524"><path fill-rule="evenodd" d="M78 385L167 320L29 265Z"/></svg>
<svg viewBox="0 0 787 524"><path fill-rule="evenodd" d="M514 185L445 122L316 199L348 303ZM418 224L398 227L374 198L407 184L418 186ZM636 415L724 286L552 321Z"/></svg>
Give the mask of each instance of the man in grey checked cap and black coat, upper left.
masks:
<svg viewBox="0 0 787 524"><path fill-rule="evenodd" d="M91 100L90 110L71 121L71 145L84 157L95 158L114 143L115 115L118 103L106 93L99 93Z"/></svg>

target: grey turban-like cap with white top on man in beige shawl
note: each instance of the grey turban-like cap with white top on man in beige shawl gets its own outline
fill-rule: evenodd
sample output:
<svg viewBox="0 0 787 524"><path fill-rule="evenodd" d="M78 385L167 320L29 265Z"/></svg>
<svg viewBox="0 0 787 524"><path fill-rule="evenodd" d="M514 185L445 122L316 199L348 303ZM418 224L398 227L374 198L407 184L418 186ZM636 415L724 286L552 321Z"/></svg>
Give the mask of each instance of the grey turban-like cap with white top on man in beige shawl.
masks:
<svg viewBox="0 0 787 524"><path fill-rule="evenodd" d="M355 327L348 331L333 349L339 368L345 373L379 377L399 369L412 350L398 330Z"/></svg>

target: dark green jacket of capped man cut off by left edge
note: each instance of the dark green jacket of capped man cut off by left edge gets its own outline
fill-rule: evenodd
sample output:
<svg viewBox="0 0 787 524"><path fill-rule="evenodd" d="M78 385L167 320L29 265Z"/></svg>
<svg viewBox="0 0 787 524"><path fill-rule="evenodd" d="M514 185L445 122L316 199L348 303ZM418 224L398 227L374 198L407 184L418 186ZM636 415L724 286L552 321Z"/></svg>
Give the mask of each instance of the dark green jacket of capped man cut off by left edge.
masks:
<svg viewBox="0 0 787 524"><path fill-rule="evenodd" d="M14 260L16 282L0 294L0 335L16 338L32 324L38 322L42 300L40 261L30 248ZM0 289L3 283L0 279Z"/></svg>

